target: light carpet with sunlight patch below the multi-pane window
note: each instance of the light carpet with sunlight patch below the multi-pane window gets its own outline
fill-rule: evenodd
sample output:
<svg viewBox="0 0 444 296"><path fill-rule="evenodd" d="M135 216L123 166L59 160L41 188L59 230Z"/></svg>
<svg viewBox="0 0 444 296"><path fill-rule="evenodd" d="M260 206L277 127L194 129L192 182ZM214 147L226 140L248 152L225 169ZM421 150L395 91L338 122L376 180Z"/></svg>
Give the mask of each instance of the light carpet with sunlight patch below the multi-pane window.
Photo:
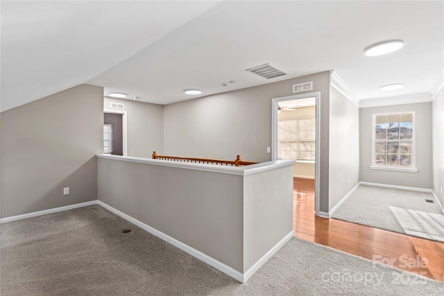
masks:
<svg viewBox="0 0 444 296"><path fill-rule="evenodd" d="M432 193L359 185L332 218L444 243L444 215Z"/></svg>

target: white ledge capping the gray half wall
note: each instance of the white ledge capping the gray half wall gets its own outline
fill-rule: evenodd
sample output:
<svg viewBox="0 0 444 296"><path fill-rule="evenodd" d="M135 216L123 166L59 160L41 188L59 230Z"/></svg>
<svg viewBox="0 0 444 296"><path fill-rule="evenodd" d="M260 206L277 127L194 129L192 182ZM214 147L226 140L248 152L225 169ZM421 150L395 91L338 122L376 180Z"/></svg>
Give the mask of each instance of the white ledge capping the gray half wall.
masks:
<svg viewBox="0 0 444 296"><path fill-rule="evenodd" d="M295 162L293 159L278 159L271 162L260 162L250 166L222 166L217 164L198 164L194 162L173 162L171 160L151 159L142 157L98 154L98 158L114 159L123 162L138 162L141 164L154 164L156 166L170 166L173 168L187 168L190 170L208 171L214 173L225 173L230 175L250 175L262 171L280 168L282 166L291 166Z"/></svg>

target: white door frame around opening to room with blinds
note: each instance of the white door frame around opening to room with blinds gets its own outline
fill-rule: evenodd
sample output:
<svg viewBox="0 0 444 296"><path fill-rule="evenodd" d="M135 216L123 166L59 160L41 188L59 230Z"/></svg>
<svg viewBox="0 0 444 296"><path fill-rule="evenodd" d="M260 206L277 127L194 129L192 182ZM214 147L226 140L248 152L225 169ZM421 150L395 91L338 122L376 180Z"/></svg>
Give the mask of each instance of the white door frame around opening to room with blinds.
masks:
<svg viewBox="0 0 444 296"><path fill-rule="evenodd" d="M316 216L319 216L319 151L321 148L319 143L319 127L321 126L319 124L321 121L319 110L321 110L321 92L283 96L281 98L273 98L271 100L271 160L278 159L278 103L282 101L299 100L302 98L316 98L316 161L314 162L314 210L316 212Z"/></svg>

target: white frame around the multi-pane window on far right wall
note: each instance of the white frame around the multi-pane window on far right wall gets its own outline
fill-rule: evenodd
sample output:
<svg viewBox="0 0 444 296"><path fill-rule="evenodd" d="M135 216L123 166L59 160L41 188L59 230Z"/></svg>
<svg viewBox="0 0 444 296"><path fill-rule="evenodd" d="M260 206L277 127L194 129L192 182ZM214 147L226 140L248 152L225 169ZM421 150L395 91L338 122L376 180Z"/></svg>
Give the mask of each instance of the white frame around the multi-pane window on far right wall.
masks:
<svg viewBox="0 0 444 296"><path fill-rule="evenodd" d="M412 139L411 139L411 166L383 166L381 164L376 164L376 137L375 137L375 124L376 124L376 116L380 115L401 115L401 114L412 114L413 122L412 122ZM383 112L383 113L376 113L372 116L372 164L370 165L370 169L373 170L384 170L384 171L402 171L402 172L411 172L416 173L418 172L418 168L416 168L416 114L415 112ZM395 140L393 140L395 141ZM399 140L398 140L399 141Z"/></svg>

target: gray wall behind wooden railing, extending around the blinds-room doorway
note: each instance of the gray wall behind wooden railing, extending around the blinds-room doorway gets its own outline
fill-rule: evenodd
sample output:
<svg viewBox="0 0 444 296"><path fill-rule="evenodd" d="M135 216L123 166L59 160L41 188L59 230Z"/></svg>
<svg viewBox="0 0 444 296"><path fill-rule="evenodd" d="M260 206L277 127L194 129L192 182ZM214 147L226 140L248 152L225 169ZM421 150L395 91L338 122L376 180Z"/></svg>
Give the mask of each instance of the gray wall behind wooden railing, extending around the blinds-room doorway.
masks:
<svg viewBox="0 0 444 296"><path fill-rule="evenodd" d="M291 96L292 85L313 81L321 92L320 209L328 212L330 71L164 106L164 153L266 162L271 155L271 100ZM303 94L298 93L298 94Z"/></svg>

